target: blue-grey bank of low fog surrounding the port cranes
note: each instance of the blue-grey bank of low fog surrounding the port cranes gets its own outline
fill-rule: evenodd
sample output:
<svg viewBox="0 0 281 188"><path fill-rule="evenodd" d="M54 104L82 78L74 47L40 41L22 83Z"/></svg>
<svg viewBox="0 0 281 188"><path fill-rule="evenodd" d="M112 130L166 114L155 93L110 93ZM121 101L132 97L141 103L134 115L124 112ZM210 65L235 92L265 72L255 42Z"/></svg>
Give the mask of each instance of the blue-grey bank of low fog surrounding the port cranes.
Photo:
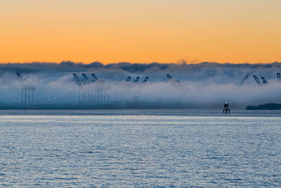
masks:
<svg viewBox="0 0 281 188"><path fill-rule="evenodd" d="M231 64L231 63L2 63L0 64L1 102L20 103L21 85L15 73L21 73L28 85L36 87L34 104L78 103L79 87L73 73L82 79L96 74L102 87L109 94L141 94L141 101L183 101L197 106L214 106L228 101L235 107L266 102L281 102L281 85L276 73L281 73L281 63ZM173 86L166 77L171 75L180 84ZM241 87L242 79L249 75ZM252 75L265 77L268 84L259 86ZM131 76L130 84L125 84ZM139 84L133 80L139 76ZM141 87L141 82L149 80Z"/></svg>

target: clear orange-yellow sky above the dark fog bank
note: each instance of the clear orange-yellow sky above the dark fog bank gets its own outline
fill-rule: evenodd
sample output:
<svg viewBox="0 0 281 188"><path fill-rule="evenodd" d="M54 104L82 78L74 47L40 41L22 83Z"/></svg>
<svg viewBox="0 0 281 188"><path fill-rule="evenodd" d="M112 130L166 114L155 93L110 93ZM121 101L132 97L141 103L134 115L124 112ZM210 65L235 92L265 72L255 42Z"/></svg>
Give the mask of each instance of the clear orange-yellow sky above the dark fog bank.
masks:
<svg viewBox="0 0 281 188"><path fill-rule="evenodd" d="M280 0L1 0L0 62L281 61Z"/></svg>

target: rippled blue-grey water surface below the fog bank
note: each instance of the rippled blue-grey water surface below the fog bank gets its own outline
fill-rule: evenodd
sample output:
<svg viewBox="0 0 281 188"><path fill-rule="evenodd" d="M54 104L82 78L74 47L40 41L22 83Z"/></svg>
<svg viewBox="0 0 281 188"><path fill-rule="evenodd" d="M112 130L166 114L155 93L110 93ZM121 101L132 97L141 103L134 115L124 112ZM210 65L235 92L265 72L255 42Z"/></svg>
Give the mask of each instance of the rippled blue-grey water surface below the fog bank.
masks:
<svg viewBox="0 0 281 188"><path fill-rule="evenodd" d="M281 111L0 111L0 187L281 187Z"/></svg>

